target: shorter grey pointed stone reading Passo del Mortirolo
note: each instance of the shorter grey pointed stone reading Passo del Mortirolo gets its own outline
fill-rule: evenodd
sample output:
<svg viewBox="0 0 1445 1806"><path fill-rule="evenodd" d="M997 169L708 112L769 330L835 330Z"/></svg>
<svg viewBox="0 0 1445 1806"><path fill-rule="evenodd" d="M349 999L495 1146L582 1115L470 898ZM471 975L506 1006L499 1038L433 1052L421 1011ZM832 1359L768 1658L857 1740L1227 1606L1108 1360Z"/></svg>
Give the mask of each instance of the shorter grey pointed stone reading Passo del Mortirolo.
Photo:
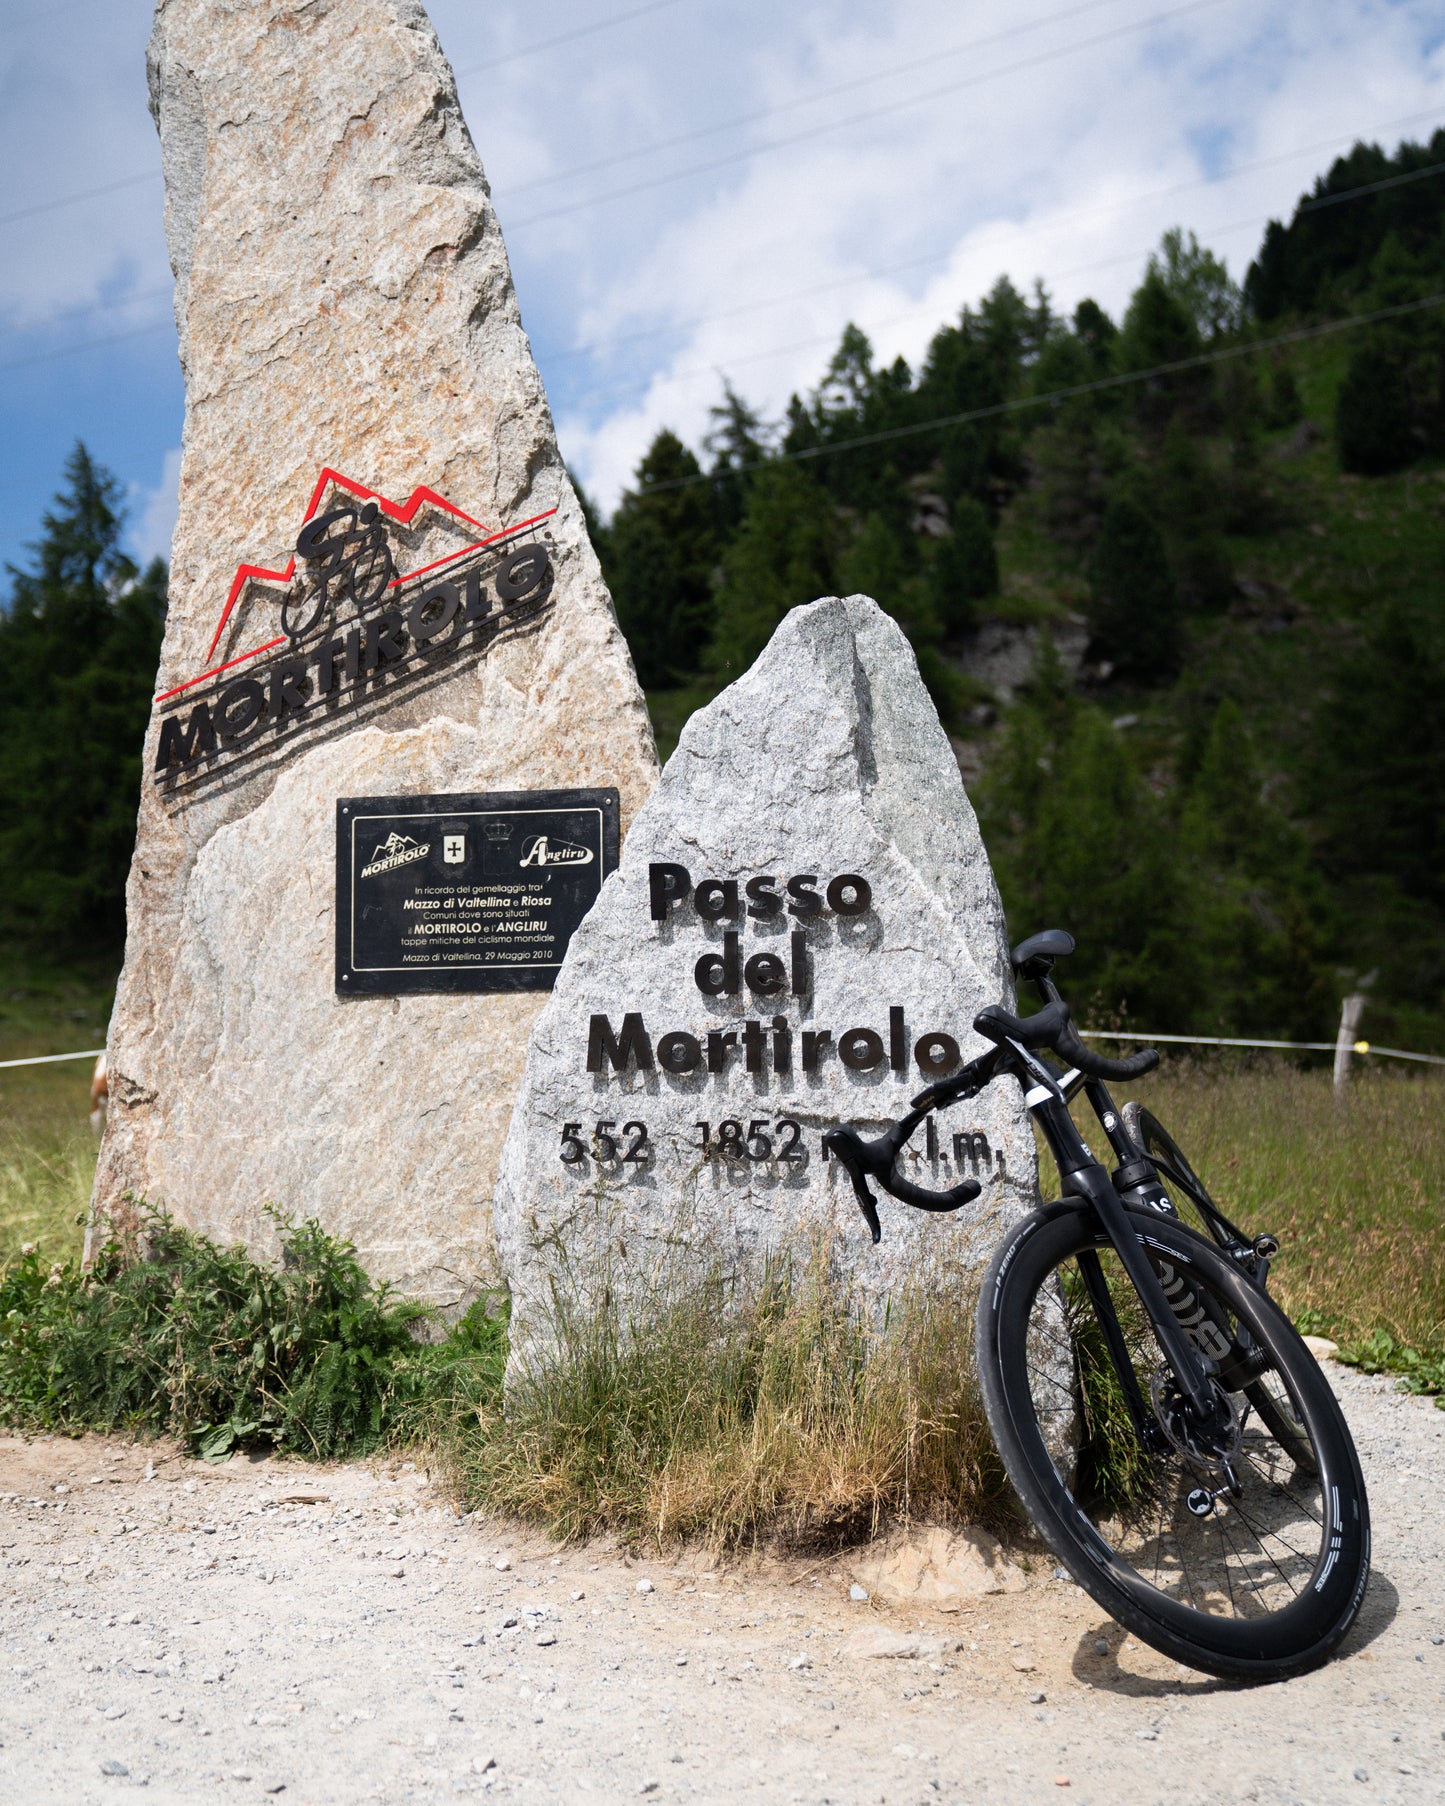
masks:
<svg viewBox="0 0 1445 1806"><path fill-rule="evenodd" d="M533 1031L497 1188L513 1349L555 1289L757 1268L816 1235L863 1297L981 1261L1037 1203L1017 1084L914 1136L907 1172L983 1194L863 1228L824 1158L984 1049L1013 997L1002 910L954 753L898 625L865 596L795 609L683 730ZM937 1271L937 1264L934 1271Z"/></svg>

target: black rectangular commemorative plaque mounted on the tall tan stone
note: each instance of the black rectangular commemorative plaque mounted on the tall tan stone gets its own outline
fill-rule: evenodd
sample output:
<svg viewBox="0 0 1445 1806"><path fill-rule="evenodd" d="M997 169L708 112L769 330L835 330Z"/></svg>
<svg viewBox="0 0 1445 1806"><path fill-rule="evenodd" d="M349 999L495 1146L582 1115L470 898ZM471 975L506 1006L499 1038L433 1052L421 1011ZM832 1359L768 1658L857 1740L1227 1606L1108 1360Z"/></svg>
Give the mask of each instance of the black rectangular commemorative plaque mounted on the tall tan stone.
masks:
<svg viewBox="0 0 1445 1806"><path fill-rule="evenodd" d="M549 991L616 863L614 789L341 796L338 995Z"/></svg>

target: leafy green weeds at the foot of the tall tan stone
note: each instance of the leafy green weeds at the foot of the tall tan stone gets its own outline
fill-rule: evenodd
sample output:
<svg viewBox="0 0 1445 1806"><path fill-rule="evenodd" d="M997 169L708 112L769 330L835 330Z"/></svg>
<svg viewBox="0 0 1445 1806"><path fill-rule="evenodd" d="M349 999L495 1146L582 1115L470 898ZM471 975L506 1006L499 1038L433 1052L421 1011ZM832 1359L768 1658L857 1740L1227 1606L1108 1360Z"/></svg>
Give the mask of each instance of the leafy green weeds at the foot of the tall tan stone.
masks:
<svg viewBox="0 0 1445 1806"><path fill-rule="evenodd" d="M0 1421L172 1434L206 1459L356 1456L437 1394L497 1394L504 1329L486 1299L419 1342L426 1306L372 1286L316 1223L278 1228L275 1266L161 1215L89 1270L29 1246L0 1270Z"/></svg>

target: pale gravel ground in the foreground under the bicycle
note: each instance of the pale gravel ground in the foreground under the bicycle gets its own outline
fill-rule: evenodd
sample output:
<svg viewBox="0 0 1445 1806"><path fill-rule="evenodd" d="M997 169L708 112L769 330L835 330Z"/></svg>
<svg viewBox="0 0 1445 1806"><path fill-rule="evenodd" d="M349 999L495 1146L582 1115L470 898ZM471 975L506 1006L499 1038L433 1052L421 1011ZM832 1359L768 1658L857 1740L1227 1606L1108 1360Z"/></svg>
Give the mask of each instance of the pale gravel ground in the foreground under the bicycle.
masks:
<svg viewBox="0 0 1445 1806"><path fill-rule="evenodd" d="M1051 1568L919 1618L838 1560L558 1553L406 1463L0 1439L0 1801L1438 1802L1445 1412L1331 1378L1375 1580L1340 1660L1246 1690Z"/></svg>

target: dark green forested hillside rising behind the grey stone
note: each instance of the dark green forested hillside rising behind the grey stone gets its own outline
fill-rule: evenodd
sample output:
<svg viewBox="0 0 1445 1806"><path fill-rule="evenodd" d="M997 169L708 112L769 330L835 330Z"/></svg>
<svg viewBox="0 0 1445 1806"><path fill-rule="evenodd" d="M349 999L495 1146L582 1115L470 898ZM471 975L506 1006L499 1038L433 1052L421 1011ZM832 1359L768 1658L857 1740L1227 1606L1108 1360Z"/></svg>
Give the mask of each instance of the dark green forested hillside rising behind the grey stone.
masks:
<svg viewBox="0 0 1445 1806"><path fill-rule="evenodd" d="M1356 148L1243 287L1122 320L1006 276L764 423L661 432L598 529L663 751L782 614L863 591L954 737L1017 934L1095 1020L1445 1051L1445 130Z"/></svg>

